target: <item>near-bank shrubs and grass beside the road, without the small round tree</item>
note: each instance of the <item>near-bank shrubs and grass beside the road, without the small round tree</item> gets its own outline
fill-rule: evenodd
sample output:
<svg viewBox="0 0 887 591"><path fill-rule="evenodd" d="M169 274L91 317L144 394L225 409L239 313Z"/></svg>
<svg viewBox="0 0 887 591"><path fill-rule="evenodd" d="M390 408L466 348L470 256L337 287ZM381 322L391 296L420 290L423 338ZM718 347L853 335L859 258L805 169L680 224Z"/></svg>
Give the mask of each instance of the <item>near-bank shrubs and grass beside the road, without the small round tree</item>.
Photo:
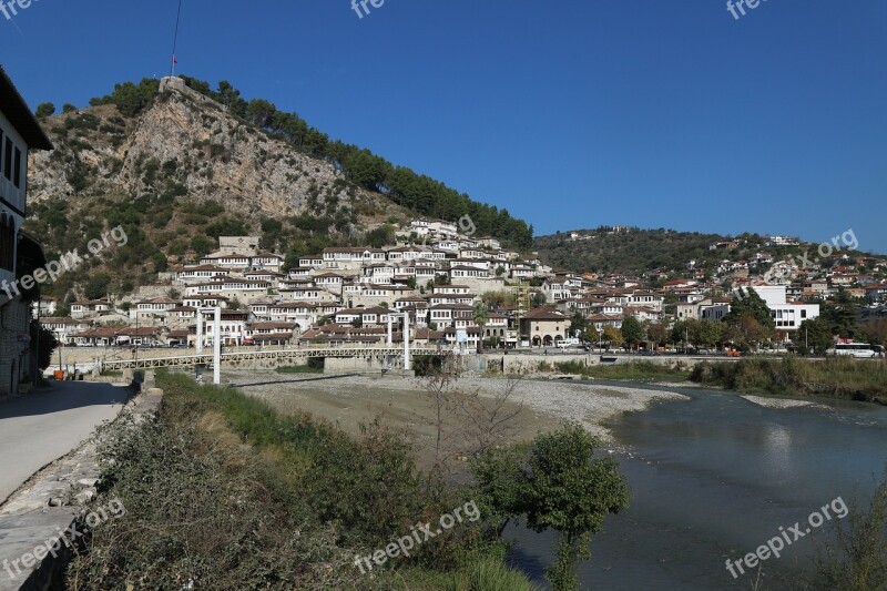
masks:
<svg viewBox="0 0 887 591"><path fill-rule="evenodd" d="M378 421L355 440L233 388L157 381L157 419L119 421L100 449L100 499L120 499L126 516L95 529L70 589L533 589L480 521L407 560L357 568L470 493L430 493L409 442Z"/></svg>

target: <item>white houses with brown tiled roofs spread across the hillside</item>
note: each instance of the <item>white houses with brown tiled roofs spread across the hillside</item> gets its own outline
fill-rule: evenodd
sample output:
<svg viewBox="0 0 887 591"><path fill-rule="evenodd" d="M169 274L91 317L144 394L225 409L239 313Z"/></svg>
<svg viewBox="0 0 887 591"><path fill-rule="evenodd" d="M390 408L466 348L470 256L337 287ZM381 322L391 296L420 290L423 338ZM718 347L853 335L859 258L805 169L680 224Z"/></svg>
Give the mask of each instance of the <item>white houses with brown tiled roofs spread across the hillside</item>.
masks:
<svg viewBox="0 0 887 591"><path fill-rule="evenodd" d="M723 257L713 276L694 271L694 261L683 278L657 269L599 276L552 268L472 231L468 217L414 220L399 228L395 246L326 248L293 268L285 268L284 255L263 252L256 236L222 236L216 252L160 274L131 296L73 302L65 317L43 297L34 314L40 310L62 345L77 347L193 347L198 310L221 307L223 346L383 344L389 322L392 342L400 343L408 317L415 343L469 350L578 344L577 315L601 345L609 345L600 343L606 329L620 330L628 317L666 328L720 322L734 295L748 288L766 303L779 342L793 340L804 320L819 316L819 302L839 289L867 298L868 317L885 315L887 284L871 281L887 269L884 258L838 252L807 266L762 249L737 261L730 257L741 246L736 240L711 246ZM763 246L798 244L772 236ZM215 338L212 330L205 343Z"/></svg>

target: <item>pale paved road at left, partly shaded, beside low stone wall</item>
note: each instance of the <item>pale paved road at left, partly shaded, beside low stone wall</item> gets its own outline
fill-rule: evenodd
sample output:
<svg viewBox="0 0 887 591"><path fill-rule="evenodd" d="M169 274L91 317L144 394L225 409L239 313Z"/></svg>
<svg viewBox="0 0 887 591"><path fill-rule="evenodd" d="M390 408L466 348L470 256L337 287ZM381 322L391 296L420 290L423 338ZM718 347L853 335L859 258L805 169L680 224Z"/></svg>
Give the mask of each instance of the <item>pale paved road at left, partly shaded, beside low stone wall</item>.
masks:
<svg viewBox="0 0 887 591"><path fill-rule="evenodd" d="M0 404L0 502L88 439L102 421L115 418L130 393L110 384L50 384Z"/></svg>

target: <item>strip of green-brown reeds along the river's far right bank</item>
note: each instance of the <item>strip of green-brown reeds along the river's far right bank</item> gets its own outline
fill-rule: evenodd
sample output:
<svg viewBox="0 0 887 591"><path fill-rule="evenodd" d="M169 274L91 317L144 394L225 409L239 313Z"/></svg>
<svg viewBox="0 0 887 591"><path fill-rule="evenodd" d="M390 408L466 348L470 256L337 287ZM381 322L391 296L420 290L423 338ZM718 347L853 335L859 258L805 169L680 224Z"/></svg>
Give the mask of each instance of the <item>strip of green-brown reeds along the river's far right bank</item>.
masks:
<svg viewBox="0 0 887 591"><path fill-rule="evenodd" d="M691 379L743 393L827 396L887 404L887 364L879 360L832 358L810 361L783 357L745 358L736 363L704 361L693 369Z"/></svg>

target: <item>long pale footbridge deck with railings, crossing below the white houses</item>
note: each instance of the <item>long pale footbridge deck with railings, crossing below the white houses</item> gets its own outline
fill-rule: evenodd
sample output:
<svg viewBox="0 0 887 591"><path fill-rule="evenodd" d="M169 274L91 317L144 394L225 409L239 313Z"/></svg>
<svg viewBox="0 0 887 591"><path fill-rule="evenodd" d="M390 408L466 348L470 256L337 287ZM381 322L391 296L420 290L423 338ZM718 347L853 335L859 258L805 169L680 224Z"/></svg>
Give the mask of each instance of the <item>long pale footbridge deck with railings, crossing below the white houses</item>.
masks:
<svg viewBox="0 0 887 591"><path fill-rule="evenodd" d="M437 347L410 347L410 358L416 355L442 355L447 349ZM236 364L241 361L276 361L285 364L287 361L307 360L312 358L347 358L347 357L404 357L404 347L324 347L324 348L297 348L297 349L274 349L274 350L249 350L222 353L222 363ZM105 370L121 369L154 369L159 367L186 367L194 365L213 365L213 354L188 354L174 355L169 357L142 357L139 359L114 359L101 361Z"/></svg>

